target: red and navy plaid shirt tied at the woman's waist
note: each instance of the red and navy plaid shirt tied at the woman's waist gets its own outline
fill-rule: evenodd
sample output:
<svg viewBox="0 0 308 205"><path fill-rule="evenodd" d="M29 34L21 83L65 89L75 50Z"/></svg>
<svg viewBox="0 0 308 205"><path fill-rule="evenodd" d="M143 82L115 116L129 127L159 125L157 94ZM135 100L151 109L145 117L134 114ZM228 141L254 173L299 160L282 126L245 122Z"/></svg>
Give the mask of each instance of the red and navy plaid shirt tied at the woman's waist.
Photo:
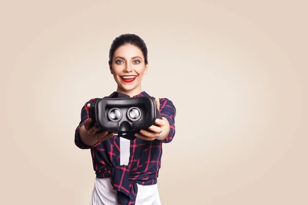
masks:
<svg viewBox="0 0 308 205"><path fill-rule="evenodd" d="M113 92L108 97L117 97ZM149 96L145 91L139 96ZM160 113L170 125L170 132L164 140L143 140L136 138L130 141L130 157L128 165L120 165L120 137L113 136L105 141L87 146L80 138L79 129L88 118L88 103L95 103L98 98L89 100L81 110L81 121L75 130L75 145L81 149L90 149L93 169L98 178L111 177L111 184L117 190L119 205L134 204L140 185L154 185L157 183L161 168L162 144L170 142L175 136L176 108L167 98L159 98Z"/></svg>

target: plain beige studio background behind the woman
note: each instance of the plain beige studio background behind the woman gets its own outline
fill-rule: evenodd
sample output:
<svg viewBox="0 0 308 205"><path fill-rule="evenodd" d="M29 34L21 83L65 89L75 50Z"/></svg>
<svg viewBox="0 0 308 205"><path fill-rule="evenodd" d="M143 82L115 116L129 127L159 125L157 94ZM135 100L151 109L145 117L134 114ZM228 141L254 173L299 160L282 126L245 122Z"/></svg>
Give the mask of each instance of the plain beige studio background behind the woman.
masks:
<svg viewBox="0 0 308 205"><path fill-rule="evenodd" d="M89 204L80 110L116 88L109 46L136 33L142 88L171 99L165 204L308 204L305 1L1 1L1 204Z"/></svg>

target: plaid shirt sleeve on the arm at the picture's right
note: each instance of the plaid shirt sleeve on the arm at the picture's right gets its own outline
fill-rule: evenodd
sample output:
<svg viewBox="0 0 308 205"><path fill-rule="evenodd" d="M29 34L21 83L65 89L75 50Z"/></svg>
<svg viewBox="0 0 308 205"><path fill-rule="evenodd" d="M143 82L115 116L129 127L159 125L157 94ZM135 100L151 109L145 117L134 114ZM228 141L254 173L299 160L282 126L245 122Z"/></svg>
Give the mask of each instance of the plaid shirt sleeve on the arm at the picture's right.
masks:
<svg viewBox="0 0 308 205"><path fill-rule="evenodd" d="M172 141L176 134L175 117L176 117L176 107L168 98L160 98L160 113L162 117L165 117L170 125L170 132L168 136L161 140L163 143L169 143Z"/></svg>

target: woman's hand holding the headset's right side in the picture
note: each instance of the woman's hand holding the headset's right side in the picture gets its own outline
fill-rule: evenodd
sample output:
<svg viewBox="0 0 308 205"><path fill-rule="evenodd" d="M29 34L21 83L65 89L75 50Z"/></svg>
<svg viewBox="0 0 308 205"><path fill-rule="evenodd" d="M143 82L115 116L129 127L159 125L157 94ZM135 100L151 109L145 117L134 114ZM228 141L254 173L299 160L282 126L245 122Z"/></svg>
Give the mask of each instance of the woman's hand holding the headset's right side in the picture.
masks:
<svg viewBox="0 0 308 205"><path fill-rule="evenodd" d="M160 108L159 99L155 99L157 103L157 109ZM168 120L163 117L163 119L157 118L155 120L156 125L152 125L147 130L140 130L140 133L136 133L135 136L144 140L153 141L155 139L163 140L165 139L170 131L170 126Z"/></svg>

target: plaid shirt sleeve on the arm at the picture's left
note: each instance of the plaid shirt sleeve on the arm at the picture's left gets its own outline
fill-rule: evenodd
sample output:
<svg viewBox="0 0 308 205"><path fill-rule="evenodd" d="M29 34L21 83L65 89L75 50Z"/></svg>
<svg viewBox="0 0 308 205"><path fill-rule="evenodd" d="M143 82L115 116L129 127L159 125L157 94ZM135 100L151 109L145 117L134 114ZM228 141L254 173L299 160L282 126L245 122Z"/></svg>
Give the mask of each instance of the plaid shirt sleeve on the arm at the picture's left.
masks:
<svg viewBox="0 0 308 205"><path fill-rule="evenodd" d="M94 144L92 146L88 146L88 145L84 144L84 142L81 140L80 134L79 134L80 128L84 125L86 119L89 118L89 111L87 109L87 104L88 103L94 104L95 101L96 101L95 98L90 99L89 101L87 101L87 103L81 109L81 120L79 122L78 127L75 130L75 145L77 147L79 147L80 149L90 149L90 148L93 148L95 146L98 146L101 143L100 141L98 141L96 144Z"/></svg>

